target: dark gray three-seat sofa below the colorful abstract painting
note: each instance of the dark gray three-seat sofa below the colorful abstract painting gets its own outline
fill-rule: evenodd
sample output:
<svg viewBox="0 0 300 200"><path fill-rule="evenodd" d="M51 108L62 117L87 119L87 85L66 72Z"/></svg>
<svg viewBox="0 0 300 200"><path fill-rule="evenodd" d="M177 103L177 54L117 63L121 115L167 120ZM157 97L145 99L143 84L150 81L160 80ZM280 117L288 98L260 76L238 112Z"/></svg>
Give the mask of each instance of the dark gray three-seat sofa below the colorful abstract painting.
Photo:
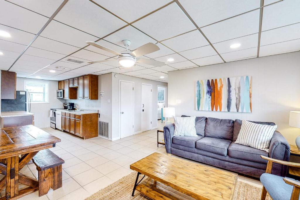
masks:
<svg viewBox="0 0 300 200"><path fill-rule="evenodd" d="M252 122L275 125L273 122ZM196 117L197 137L174 136L174 128L174 124L164 127L166 151L169 154L256 178L265 172L267 166L267 160L260 155L289 161L289 143L278 131L274 132L271 139L269 153L234 143L241 129L241 120L238 119ZM284 177L286 172L286 166L273 164L272 174Z"/></svg>

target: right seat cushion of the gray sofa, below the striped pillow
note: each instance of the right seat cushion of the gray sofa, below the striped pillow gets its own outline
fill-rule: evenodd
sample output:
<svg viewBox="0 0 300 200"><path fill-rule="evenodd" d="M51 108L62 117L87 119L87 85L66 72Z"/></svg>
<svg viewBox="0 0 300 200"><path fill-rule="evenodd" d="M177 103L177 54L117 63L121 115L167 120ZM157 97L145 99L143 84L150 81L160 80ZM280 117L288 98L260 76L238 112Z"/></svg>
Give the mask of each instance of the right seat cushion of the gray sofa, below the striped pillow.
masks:
<svg viewBox="0 0 300 200"><path fill-rule="evenodd" d="M250 160L258 163L268 163L268 160L262 159L260 155L268 156L268 153L256 148L240 145L232 142L228 148L228 156L243 160Z"/></svg>

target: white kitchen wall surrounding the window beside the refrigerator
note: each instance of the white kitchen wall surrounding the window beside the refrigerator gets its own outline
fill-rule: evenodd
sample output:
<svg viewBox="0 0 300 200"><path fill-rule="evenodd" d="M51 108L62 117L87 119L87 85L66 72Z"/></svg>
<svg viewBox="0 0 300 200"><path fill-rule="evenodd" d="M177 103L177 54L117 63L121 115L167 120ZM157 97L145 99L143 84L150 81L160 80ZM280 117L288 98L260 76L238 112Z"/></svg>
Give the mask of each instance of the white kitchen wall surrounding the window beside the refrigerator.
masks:
<svg viewBox="0 0 300 200"><path fill-rule="evenodd" d="M50 108L63 108L63 99L56 98L56 90L58 89L58 81L41 80L41 79L26 79L17 77L16 90L24 91L24 80L34 80L49 82L49 103L32 103L31 111L35 114L35 126L39 128L50 126L49 112Z"/></svg>

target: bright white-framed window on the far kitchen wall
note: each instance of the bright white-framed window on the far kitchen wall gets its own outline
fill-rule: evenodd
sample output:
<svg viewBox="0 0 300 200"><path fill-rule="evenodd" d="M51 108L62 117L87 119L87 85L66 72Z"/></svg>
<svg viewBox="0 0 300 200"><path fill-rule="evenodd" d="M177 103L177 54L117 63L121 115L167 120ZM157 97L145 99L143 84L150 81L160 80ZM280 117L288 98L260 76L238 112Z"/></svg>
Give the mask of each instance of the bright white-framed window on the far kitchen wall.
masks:
<svg viewBox="0 0 300 200"><path fill-rule="evenodd" d="M24 81L31 103L49 103L49 82Z"/></svg>

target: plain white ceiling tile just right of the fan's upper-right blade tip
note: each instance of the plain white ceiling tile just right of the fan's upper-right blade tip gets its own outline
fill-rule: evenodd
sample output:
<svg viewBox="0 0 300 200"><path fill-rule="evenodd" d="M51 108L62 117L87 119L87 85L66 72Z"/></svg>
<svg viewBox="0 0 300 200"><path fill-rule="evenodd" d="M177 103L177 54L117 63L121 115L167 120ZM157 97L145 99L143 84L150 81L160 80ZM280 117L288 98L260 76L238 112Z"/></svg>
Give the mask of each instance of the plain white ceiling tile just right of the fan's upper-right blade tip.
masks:
<svg viewBox="0 0 300 200"><path fill-rule="evenodd" d="M198 30L173 37L169 40L162 41L161 43L170 47L176 52L194 49L209 44Z"/></svg>

